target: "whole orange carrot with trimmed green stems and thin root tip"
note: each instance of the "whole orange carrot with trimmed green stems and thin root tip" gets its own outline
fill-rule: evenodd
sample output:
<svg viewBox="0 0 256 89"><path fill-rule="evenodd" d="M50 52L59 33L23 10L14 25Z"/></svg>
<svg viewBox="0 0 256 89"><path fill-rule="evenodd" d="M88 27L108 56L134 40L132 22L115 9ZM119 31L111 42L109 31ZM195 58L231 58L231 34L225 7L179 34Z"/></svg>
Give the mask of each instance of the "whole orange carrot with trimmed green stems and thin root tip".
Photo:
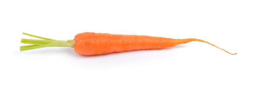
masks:
<svg viewBox="0 0 256 89"><path fill-rule="evenodd" d="M73 40L53 40L32 34L23 33L28 36L37 37L43 40L22 39L21 43L33 44L29 46L20 46L20 51L37 49L42 47L75 47L75 52L80 55L101 55L112 52L124 52L131 50L143 49L163 49L173 47L178 44L198 41L210 44L200 39L171 39L164 37L140 36L140 35L123 35L108 33L79 33ZM220 47L217 47L221 49ZM227 52L224 49L221 49ZM227 52L229 53L229 52ZM232 53L229 53L232 54ZM236 53L232 54L235 55Z"/></svg>

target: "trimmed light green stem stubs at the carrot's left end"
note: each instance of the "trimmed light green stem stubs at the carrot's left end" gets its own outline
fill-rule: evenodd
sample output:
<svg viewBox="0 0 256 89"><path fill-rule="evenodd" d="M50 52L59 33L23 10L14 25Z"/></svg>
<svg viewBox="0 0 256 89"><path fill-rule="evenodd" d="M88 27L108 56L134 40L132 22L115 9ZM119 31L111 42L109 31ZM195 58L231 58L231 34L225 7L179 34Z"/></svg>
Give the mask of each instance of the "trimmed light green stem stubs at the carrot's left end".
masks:
<svg viewBox="0 0 256 89"><path fill-rule="evenodd" d="M36 37L36 38L43 39L43 40L22 38L20 43L33 44L33 45L20 46L20 51L38 49L38 48L42 48L42 47L72 47L73 48L75 45L75 40L53 40L53 39L35 36L32 34L27 34L27 33L22 33L22 34L25 34L27 36Z"/></svg>

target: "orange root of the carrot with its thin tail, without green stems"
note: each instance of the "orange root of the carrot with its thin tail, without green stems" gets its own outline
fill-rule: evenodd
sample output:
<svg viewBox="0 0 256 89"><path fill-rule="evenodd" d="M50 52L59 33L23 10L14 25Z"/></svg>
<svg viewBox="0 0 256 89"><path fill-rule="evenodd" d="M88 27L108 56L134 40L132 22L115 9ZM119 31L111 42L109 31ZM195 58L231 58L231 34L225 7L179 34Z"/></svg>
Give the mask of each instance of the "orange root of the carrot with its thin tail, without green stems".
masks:
<svg viewBox="0 0 256 89"><path fill-rule="evenodd" d="M171 39L153 36L85 32L75 36L75 52L81 55L101 55L141 49L163 49L192 41L211 44L200 39ZM227 52L226 50L224 51Z"/></svg>

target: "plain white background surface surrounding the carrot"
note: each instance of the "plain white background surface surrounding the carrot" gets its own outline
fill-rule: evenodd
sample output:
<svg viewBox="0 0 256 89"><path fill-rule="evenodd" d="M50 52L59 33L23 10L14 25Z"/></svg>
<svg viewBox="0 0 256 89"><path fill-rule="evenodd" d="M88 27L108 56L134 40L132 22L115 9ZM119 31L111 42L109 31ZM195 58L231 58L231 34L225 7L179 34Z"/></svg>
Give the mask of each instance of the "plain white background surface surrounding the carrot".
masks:
<svg viewBox="0 0 256 89"><path fill-rule="evenodd" d="M255 0L1 0L1 89L255 89ZM22 32L197 38L162 50L82 56L19 51Z"/></svg>

